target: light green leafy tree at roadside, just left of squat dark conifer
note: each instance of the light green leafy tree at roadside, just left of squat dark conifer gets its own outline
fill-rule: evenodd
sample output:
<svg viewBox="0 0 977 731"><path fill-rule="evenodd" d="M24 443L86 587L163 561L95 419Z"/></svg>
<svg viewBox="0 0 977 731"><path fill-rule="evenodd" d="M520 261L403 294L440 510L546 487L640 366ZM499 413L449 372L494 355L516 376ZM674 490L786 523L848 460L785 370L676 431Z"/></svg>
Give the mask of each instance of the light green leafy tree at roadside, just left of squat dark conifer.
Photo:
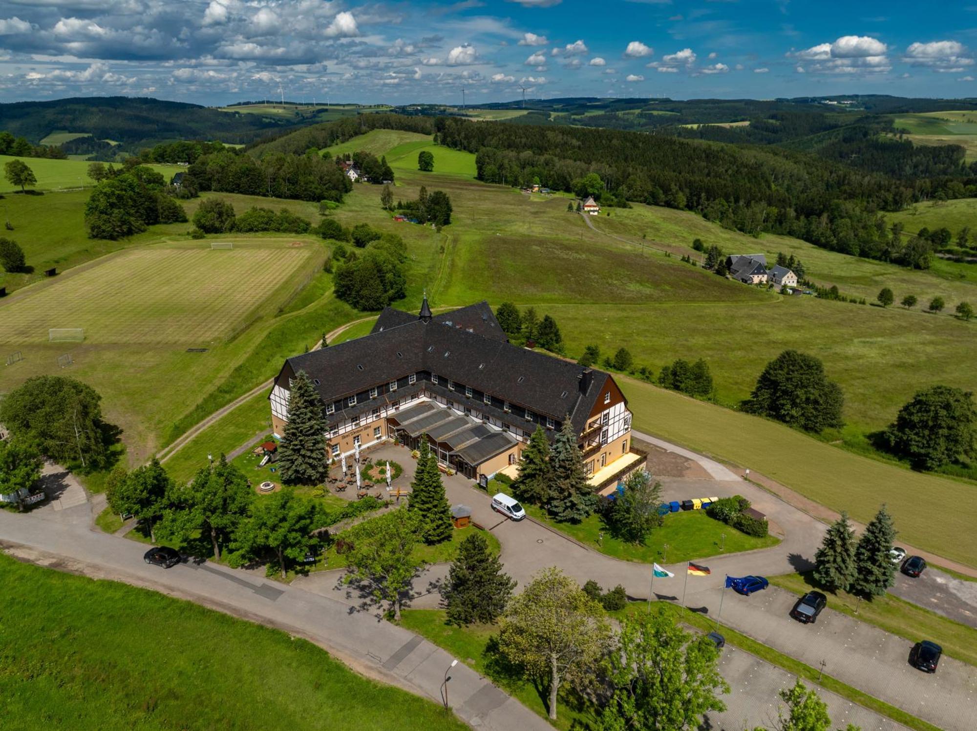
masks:
<svg viewBox="0 0 977 731"><path fill-rule="evenodd" d="M400 621L404 592L421 561L412 555L417 543L417 514L404 505L363 521L343 534L352 545L346 554L350 580L364 581L378 601L390 602Z"/></svg>

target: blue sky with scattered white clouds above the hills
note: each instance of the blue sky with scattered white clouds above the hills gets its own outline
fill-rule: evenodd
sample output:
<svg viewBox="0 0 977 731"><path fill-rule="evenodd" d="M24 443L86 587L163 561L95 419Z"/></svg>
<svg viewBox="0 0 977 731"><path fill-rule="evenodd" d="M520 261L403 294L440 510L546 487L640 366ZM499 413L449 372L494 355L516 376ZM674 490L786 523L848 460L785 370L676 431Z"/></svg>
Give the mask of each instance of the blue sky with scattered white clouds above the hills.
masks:
<svg viewBox="0 0 977 731"><path fill-rule="evenodd" d="M973 3L0 0L0 101L969 97Z"/></svg>

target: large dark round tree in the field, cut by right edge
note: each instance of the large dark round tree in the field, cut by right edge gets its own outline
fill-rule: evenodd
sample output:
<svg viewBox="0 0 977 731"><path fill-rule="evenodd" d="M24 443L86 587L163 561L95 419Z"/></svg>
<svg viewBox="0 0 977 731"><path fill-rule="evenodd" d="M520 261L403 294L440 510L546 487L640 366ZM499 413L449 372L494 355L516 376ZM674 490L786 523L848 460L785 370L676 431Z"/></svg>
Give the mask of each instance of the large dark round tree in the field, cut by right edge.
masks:
<svg viewBox="0 0 977 731"><path fill-rule="evenodd" d="M977 454L977 409L972 394L950 386L919 391L885 432L893 452L917 469L937 469Z"/></svg>

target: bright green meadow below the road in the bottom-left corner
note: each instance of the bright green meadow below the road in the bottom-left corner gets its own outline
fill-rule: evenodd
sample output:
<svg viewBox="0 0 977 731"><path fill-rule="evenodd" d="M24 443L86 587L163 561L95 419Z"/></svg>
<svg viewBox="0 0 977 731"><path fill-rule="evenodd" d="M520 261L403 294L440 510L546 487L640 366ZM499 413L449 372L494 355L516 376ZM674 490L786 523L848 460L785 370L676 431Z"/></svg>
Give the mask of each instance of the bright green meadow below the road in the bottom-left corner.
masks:
<svg viewBox="0 0 977 731"><path fill-rule="evenodd" d="M466 728L277 629L6 556L0 571L18 607L0 627L6 728Z"/></svg>

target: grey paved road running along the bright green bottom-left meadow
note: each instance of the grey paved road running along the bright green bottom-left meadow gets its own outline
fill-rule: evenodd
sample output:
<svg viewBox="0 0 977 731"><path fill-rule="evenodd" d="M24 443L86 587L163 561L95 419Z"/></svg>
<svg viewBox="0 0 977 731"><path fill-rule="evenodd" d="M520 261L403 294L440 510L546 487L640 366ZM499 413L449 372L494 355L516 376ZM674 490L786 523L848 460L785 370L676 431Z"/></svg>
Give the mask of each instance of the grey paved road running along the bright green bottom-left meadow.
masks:
<svg viewBox="0 0 977 731"><path fill-rule="evenodd" d="M87 512L83 506L74 510ZM371 613L351 612L345 602L206 562L169 570L149 566L143 561L144 545L39 513L0 511L0 537L9 552L42 565L154 588L306 637L367 676L441 702L452 658ZM551 728L467 666L451 670L450 682L451 707L472 726L492 731Z"/></svg>

